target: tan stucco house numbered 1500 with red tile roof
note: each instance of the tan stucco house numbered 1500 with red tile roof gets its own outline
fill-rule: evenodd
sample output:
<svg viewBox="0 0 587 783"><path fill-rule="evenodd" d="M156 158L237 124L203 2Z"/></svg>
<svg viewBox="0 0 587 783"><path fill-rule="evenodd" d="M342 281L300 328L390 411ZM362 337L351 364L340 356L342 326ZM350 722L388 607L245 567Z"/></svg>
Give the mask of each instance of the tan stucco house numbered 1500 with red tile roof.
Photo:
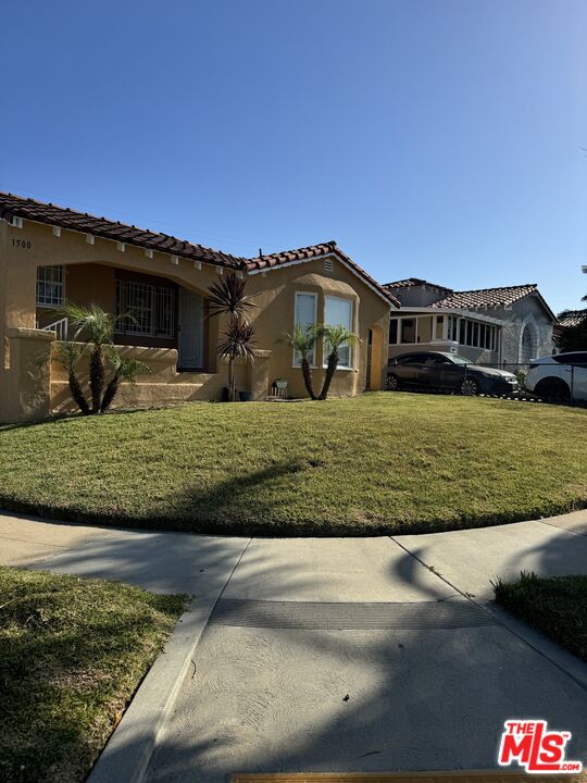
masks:
<svg viewBox="0 0 587 783"><path fill-rule="evenodd" d="M257 304L257 358L237 363L237 389L265 399L274 381L304 396L298 358L279 341L296 322L344 324L360 337L341 350L334 395L380 388L394 296L326 243L253 259L237 258L105 217L0 194L0 421L73 409L55 339L73 337L59 308L96 302L120 321L116 344L152 374L125 384L118 405L221 399L226 365L216 355L223 321L208 318L208 288L223 274L247 277ZM316 387L324 346L313 356Z"/></svg>

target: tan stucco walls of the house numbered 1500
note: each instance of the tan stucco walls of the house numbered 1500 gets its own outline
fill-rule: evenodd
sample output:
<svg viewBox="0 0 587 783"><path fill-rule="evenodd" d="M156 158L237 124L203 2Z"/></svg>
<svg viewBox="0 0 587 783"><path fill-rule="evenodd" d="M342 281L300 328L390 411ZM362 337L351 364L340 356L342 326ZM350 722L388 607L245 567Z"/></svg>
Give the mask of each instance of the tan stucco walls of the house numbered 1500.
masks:
<svg viewBox="0 0 587 783"><path fill-rule="evenodd" d="M30 243L30 248L13 246L13 239ZM271 270L266 274L248 276L248 291L254 296L258 306L251 318L255 326L255 346L260 353L252 366L237 366L238 389L252 389L253 397L262 399L268 394L275 378L286 377L290 397L305 396L301 371L292 366L291 350L279 343L280 335L294 328L296 291L317 294L319 321L324 319L325 294L352 299L353 328L361 343L353 349L353 368L337 371L330 394L353 395L365 388L369 328L374 326L383 330L383 356L387 357L389 306L336 256L333 261L333 271L329 272L324 269L324 260L317 259ZM218 279L216 268L208 264L197 269L193 262L179 259L176 265L166 253L154 252L154 258L149 259L140 248L127 245L122 252L116 243L99 237L90 245L86 241L85 234L62 229L61 237L55 237L51 226L25 221L23 228L15 228L5 221L0 221L0 336L4 347L4 361L0 364L0 421L20 421L46 415L47 394L50 395L49 407L53 410L71 407L66 377L55 361L50 364L50 377L42 373L38 377L38 383L41 386L45 384L49 391L41 393L42 400L38 402L37 411L35 412L34 405L22 402L22 395L18 395L21 401L15 401L15 390L24 383L23 378L27 377L29 385L34 385L36 381L30 366L26 370L17 366L16 357L22 356L24 361L27 351L20 347L23 340L18 346L12 345L14 336L10 337L8 330L35 330L37 314L41 326L59 318L55 311L50 309L39 312L35 301L37 266L52 264L65 264L67 268L65 290L68 299L80 302L96 301L110 311L114 310L115 269L158 275L203 296L207 295L208 287ZM226 270L224 274L227 274ZM215 352L221 330L220 319L210 320L208 373L178 374L175 371L177 352L174 349L133 349L134 355L152 364L154 372L140 378L136 385L125 385L121 389L118 405L220 399L226 385L226 368ZM48 339L47 334L41 333L40 344ZM35 343L33 334L23 339L29 340L30 345ZM12 361L9 358L11 352ZM323 350L320 345L316 350L317 366L313 371L316 389L320 389L324 376L322 361ZM385 364L382 364L382 383L384 370ZM32 389L28 389L27 399L35 398L30 391Z"/></svg>

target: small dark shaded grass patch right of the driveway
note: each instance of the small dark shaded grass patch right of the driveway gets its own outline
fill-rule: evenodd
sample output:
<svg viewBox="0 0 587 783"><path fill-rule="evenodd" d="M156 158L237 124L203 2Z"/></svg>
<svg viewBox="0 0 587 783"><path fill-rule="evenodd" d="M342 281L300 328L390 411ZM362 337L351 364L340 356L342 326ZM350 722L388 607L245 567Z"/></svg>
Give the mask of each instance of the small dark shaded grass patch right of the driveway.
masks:
<svg viewBox="0 0 587 783"><path fill-rule="evenodd" d="M587 576L538 579L495 585L496 601L587 662Z"/></svg>

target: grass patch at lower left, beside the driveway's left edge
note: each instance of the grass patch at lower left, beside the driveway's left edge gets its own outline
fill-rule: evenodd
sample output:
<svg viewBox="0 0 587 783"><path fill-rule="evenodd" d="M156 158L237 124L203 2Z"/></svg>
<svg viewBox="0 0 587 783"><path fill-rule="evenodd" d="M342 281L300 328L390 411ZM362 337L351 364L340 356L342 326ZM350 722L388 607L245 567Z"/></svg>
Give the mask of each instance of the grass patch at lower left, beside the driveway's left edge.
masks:
<svg viewBox="0 0 587 783"><path fill-rule="evenodd" d="M0 780L84 781L184 602L0 568Z"/></svg>

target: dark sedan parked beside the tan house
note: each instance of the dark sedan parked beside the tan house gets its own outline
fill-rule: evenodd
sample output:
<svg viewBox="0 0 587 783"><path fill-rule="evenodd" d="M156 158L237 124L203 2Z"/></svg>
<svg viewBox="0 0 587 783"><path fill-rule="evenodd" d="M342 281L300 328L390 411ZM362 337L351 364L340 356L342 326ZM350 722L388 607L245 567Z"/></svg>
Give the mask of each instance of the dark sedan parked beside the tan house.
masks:
<svg viewBox="0 0 587 783"><path fill-rule="evenodd" d="M396 391L410 386L463 395L509 395L520 388L515 375L505 370L480 366L442 351L413 351L389 360L387 388Z"/></svg>

